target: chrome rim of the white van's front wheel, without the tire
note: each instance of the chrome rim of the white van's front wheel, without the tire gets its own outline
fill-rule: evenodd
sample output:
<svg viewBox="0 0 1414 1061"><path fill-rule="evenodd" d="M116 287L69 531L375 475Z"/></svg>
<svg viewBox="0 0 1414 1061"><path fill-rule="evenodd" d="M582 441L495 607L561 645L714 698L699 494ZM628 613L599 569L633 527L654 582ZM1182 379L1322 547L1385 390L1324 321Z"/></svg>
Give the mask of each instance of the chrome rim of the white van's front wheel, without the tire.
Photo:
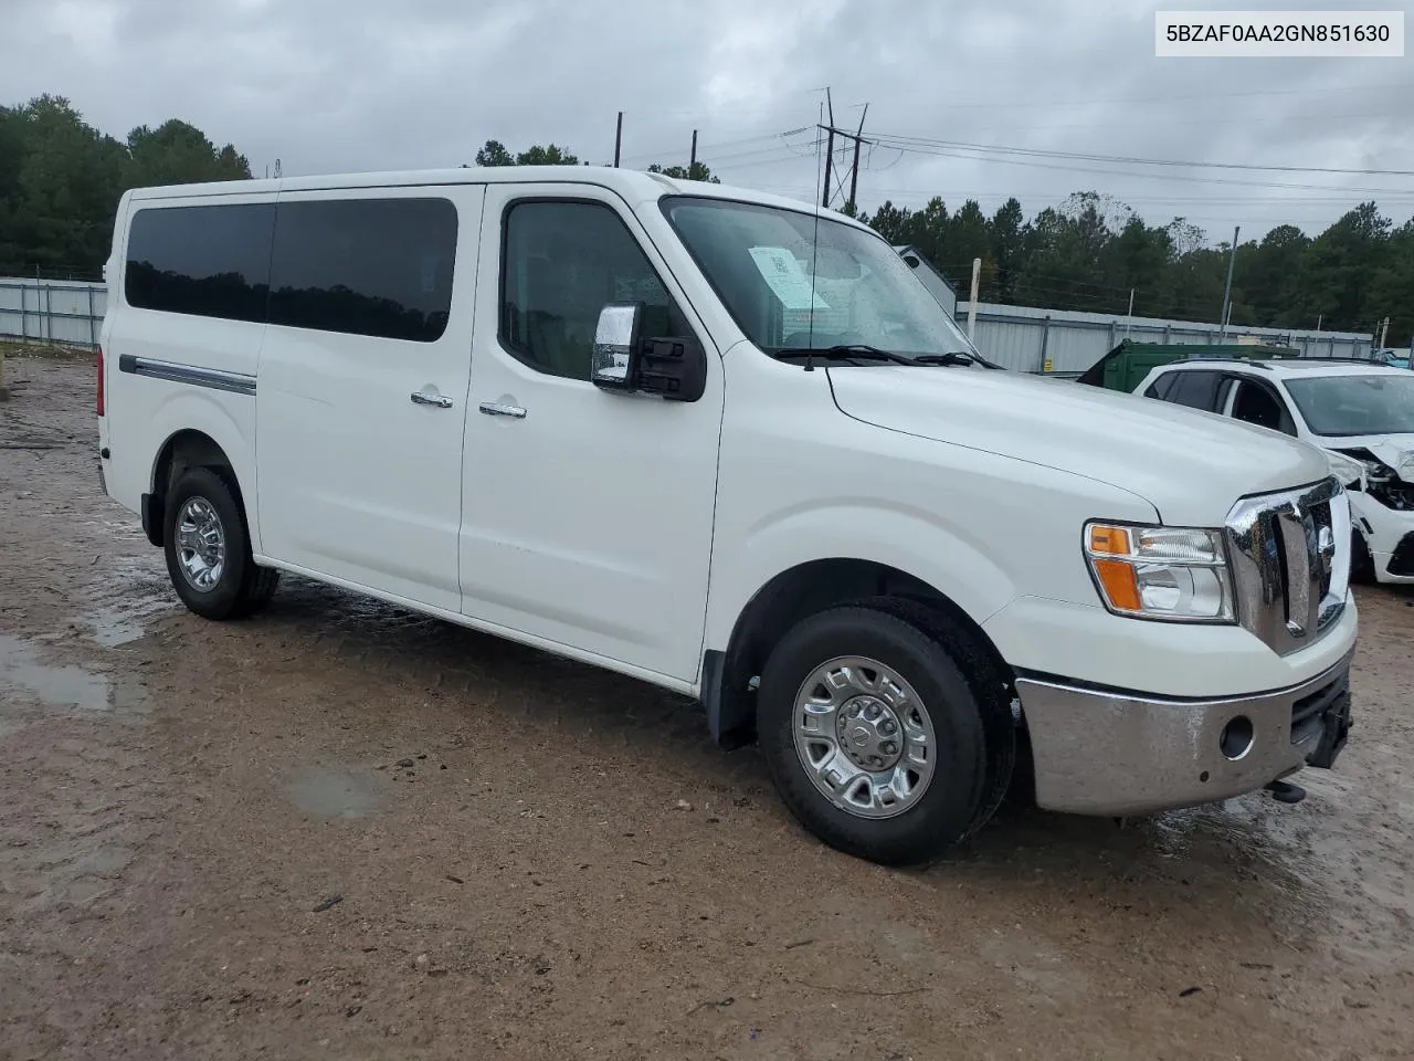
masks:
<svg viewBox="0 0 1414 1061"><path fill-rule="evenodd" d="M933 720L902 675L875 659L839 656L796 693L796 754L814 787L858 818L912 809L933 779Z"/></svg>

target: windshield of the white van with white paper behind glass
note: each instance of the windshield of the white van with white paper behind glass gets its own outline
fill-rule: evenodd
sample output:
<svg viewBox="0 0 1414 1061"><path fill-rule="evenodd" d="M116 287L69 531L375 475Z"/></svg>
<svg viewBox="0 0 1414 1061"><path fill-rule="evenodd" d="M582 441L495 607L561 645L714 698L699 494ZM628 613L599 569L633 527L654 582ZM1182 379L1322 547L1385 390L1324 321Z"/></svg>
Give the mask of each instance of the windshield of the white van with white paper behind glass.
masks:
<svg viewBox="0 0 1414 1061"><path fill-rule="evenodd" d="M898 252L870 232L727 199L673 197L663 212L732 318L768 354L976 349Z"/></svg>

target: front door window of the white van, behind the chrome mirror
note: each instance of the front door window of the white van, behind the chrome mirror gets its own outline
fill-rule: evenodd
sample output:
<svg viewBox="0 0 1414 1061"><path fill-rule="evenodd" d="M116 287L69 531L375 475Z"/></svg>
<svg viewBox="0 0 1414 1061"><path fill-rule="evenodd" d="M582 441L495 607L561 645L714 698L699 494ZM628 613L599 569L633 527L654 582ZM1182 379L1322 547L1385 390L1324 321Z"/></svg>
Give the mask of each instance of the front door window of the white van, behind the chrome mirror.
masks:
<svg viewBox="0 0 1414 1061"><path fill-rule="evenodd" d="M643 335L686 335L633 233L597 202L518 202L506 214L501 340L554 376L590 378L600 310L643 303Z"/></svg>

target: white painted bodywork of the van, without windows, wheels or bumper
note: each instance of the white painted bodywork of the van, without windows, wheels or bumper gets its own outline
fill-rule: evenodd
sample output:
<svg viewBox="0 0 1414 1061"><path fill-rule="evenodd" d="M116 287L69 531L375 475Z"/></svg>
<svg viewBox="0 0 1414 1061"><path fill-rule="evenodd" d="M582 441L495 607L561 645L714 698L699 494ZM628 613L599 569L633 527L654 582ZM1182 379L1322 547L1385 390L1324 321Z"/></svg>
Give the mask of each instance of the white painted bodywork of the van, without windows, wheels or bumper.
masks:
<svg viewBox="0 0 1414 1061"><path fill-rule="evenodd" d="M136 201L444 195L455 283L430 344L134 310ZM1277 655L1244 630L1110 614L1087 519L1217 526L1243 495L1326 474L1311 447L1216 416L967 368L816 366L766 356L658 208L663 194L802 204L628 171L361 174L144 190L124 199L105 321L113 497L153 491L163 443L211 436L243 489L256 559L699 693L776 576L855 559L946 596L1018 671L1164 696L1234 696L1319 675L1353 604ZM536 372L499 342L502 215L523 197L605 202L707 351L696 402ZM837 218L837 215L830 215ZM854 224L854 222L846 222ZM123 355L247 373L230 393L117 371ZM414 390L451 399L416 405ZM525 410L488 416L482 403Z"/></svg>

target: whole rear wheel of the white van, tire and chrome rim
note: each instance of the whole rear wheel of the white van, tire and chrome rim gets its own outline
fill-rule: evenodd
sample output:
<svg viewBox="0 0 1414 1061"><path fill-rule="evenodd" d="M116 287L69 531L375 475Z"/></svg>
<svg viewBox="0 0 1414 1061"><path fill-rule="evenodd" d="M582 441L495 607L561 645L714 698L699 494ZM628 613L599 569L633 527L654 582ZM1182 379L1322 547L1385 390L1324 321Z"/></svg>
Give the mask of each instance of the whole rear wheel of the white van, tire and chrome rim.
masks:
<svg viewBox="0 0 1414 1061"><path fill-rule="evenodd" d="M280 573L256 566L245 514L226 474L188 468L167 497L167 573L191 611L209 620L250 615L274 594Z"/></svg>

